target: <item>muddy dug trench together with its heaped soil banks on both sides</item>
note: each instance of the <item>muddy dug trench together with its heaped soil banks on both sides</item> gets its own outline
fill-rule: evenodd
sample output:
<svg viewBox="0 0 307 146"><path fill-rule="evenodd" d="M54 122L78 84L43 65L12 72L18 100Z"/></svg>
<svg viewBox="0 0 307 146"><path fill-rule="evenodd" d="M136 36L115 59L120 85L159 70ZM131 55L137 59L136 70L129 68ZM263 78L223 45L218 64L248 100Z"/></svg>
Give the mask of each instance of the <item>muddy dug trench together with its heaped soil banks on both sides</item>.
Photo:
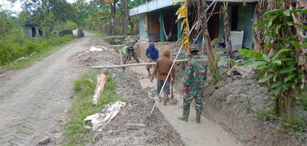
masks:
<svg viewBox="0 0 307 146"><path fill-rule="evenodd" d="M179 50L178 43L157 43L159 56L162 50L171 49L172 58ZM104 46L100 52L80 52L72 55L70 61L80 69L91 66L119 65L119 53L102 39L93 39L90 46ZM136 53L141 62L146 62L145 51L148 43L137 45ZM179 46L179 47L178 47ZM129 64L136 63L131 58ZM253 111L267 110L263 105L272 100L268 90L260 87L254 77L234 76L220 82L216 88L205 91L204 110L201 123L196 124L195 110L191 108L188 122L177 120L182 115L182 92L184 64L176 64L174 98L163 106L158 101L149 116L157 98L156 78L150 83L145 66L126 67L121 69L100 69L103 73L115 73L117 94L138 106L126 105L107 124L102 132L93 132L95 145L293 145L290 136L279 131L272 134L276 122L260 121L253 116ZM152 71L152 70L151 70ZM255 95L257 97L255 97ZM258 98L258 101L249 97ZM262 103L261 103L262 102ZM194 102L193 102L194 103ZM129 130L127 123L142 123L144 129Z"/></svg>

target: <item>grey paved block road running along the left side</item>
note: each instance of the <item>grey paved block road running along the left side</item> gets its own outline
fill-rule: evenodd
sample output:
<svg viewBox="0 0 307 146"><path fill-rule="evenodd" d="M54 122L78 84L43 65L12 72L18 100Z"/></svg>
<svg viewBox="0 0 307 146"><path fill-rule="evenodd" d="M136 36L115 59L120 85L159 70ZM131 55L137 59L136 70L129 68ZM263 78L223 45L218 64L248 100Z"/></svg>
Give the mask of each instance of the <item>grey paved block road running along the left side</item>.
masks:
<svg viewBox="0 0 307 146"><path fill-rule="evenodd" d="M73 80L80 73L67 57L84 51L95 37L85 34L76 42L34 66L0 75L0 145L37 145L46 136L49 145L61 137L58 121L67 117Z"/></svg>

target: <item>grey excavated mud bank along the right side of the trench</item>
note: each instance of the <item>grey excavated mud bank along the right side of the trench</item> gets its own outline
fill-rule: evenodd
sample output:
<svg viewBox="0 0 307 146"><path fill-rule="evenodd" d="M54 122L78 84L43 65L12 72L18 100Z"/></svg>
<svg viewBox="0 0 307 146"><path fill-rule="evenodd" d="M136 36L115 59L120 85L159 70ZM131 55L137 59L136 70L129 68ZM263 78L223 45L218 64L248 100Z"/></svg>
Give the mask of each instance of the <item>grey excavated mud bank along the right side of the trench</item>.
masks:
<svg viewBox="0 0 307 146"><path fill-rule="evenodd" d="M215 89L216 88L216 89ZM216 123L245 145L293 145L288 134L279 131L272 136L278 121L260 121L258 111L269 111L274 91L261 87L250 76L237 75L221 81L204 93L204 110ZM265 105L267 104L267 105ZM294 144L295 145L295 144Z"/></svg>

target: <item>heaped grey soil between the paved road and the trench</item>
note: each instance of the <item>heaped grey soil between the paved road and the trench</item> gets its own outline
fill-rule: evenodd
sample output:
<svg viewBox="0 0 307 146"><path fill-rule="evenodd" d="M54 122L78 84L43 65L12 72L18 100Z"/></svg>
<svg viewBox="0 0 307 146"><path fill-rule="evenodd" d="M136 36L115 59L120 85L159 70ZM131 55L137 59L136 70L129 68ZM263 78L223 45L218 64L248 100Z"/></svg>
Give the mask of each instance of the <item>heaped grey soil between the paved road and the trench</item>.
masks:
<svg viewBox="0 0 307 146"><path fill-rule="evenodd" d="M103 51L90 53L76 53L70 60L76 62L79 68L89 69L96 65L119 65L119 53L101 39L93 39L87 44L100 46ZM103 47L102 47L103 46ZM113 51L111 51L113 50ZM138 107L126 105L112 121L103 128L102 132L94 132L97 141L95 145L183 145L179 133L169 124L162 113L156 108L151 116L153 101L147 92L142 90L135 73L126 69L125 74L121 69L101 69L101 71L116 74L116 92L131 102L136 102ZM127 123L143 123L144 129L128 130Z"/></svg>

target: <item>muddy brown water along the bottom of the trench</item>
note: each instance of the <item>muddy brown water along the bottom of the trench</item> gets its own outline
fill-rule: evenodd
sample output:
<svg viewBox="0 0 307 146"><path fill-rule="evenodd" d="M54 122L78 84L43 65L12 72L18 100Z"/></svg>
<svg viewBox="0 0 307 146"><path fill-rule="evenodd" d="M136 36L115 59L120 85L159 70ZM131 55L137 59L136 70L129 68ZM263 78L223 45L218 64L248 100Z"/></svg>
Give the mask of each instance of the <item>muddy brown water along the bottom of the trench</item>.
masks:
<svg viewBox="0 0 307 146"><path fill-rule="evenodd" d="M144 66L131 66L129 67L132 71L142 73L144 76L147 76L147 70ZM157 78L153 79L153 83L150 83L150 77L141 79L140 83L143 88L154 87L157 85ZM197 124L195 117L196 111L194 108L190 109L190 115L188 122L181 121L177 119L177 116L182 116L181 105L182 98L180 95L181 91L173 90L174 98L177 98L178 102L169 101L166 106L163 106L163 102L157 103L157 107L169 121L169 123L177 130L181 135L181 140L185 145L210 145L210 146L237 146L235 140L227 136L223 130L218 128L212 121L209 121L205 118L204 115L201 115L200 123ZM162 93L163 94L163 93ZM181 93L183 94L183 93ZM161 95L163 97L163 95ZM169 95L170 97L170 95ZM157 99L154 97L155 100Z"/></svg>

